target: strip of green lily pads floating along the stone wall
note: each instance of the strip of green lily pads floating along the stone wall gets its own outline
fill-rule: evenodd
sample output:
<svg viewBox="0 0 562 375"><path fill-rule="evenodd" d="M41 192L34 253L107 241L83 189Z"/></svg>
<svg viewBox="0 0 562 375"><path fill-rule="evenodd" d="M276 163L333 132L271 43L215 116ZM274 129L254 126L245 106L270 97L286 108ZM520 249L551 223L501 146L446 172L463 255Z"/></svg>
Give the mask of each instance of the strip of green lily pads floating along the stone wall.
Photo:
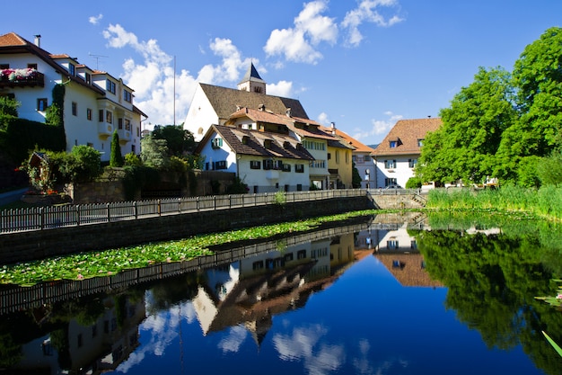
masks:
<svg viewBox="0 0 562 375"><path fill-rule="evenodd" d="M154 263L181 262L213 254L211 250L213 246L276 237L287 233L296 234L319 228L324 223L371 215L373 215L373 210L354 211L257 228L200 235L178 241L150 243L28 263L9 264L0 268L0 284L33 285L41 281L83 280L96 276L108 276Z"/></svg>

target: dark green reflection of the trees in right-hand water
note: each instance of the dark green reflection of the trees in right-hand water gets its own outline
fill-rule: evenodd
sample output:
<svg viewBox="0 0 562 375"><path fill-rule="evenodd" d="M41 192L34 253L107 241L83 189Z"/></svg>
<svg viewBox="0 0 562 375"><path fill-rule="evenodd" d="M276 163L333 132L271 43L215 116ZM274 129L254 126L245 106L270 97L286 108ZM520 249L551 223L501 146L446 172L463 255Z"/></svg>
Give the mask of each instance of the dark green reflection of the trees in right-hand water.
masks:
<svg viewBox="0 0 562 375"><path fill-rule="evenodd" d="M415 235L426 270L448 288L446 308L478 329L489 348L522 344L540 369L557 374L559 358L541 330L562 338L562 314L535 299L552 290L552 271L541 263L549 254L540 232L522 237L463 230L419 231Z"/></svg>

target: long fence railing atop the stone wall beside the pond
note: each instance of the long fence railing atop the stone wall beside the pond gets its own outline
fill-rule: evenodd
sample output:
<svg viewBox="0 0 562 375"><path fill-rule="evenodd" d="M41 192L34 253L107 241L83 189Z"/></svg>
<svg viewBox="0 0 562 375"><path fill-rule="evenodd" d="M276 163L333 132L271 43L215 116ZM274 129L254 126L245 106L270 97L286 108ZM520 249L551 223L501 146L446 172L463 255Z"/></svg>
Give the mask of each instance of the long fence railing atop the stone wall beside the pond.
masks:
<svg viewBox="0 0 562 375"><path fill-rule="evenodd" d="M204 210L226 210L283 204L285 202L359 197L365 196L365 194L366 191L363 189L282 193L264 192L2 210L0 211L0 235L30 230L78 227L88 224L143 219L163 215L178 215Z"/></svg>

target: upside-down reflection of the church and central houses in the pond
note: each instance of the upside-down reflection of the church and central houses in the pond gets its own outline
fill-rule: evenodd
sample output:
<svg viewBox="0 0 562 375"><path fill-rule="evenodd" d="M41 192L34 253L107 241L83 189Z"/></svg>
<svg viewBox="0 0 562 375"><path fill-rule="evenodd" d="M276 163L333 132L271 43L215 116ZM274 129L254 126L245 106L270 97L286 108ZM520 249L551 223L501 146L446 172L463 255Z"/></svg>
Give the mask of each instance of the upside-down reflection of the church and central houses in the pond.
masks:
<svg viewBox="0 0 562 375"><path fill-rule="evenodd" d="M355 260L354 234L286 246L206 271L193 299L204 335L245 326L260 344L272 317L303 307Z"/></svg>

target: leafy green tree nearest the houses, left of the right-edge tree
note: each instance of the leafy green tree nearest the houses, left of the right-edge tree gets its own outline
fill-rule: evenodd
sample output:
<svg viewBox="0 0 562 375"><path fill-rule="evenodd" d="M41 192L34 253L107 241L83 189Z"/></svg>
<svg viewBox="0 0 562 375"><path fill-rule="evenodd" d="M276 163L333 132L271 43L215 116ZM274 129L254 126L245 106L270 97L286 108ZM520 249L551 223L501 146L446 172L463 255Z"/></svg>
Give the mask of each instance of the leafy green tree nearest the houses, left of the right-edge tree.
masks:
<svg viewBox="0 0 562 375"><path fill-rule="evenodd" d="M501 135L514 121L510 79L501 67L480 67L474 82L441 111L443 126L426 136L417 163L423 182L479 183L492 174Z"/></svg>

